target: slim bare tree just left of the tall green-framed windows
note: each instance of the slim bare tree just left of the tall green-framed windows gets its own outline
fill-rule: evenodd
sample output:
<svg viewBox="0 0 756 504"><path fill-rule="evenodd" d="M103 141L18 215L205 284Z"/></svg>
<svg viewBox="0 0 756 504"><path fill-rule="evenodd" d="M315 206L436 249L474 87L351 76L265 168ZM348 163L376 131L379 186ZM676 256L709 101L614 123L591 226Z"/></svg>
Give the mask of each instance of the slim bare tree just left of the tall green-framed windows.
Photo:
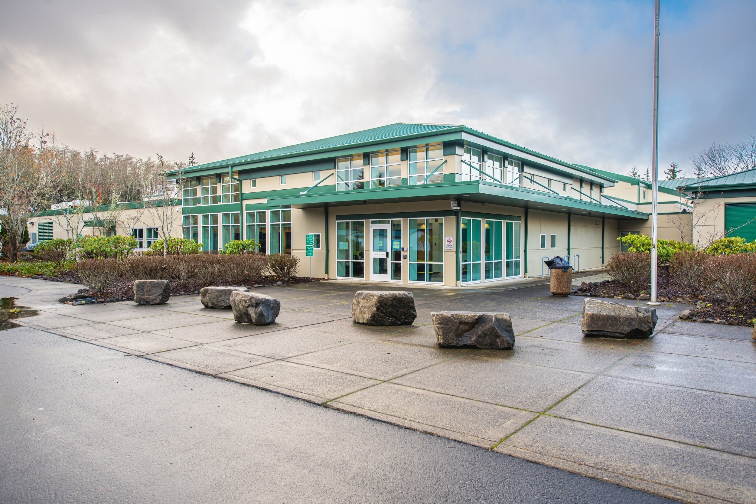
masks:
<svg viewBox="0 0 756 504"><path fill-rule="evenodd" d="M160 171L153 173L152 179L144 181L145 187L154 191L154 194L148 193L149 195L145 196L144 210L158 223L160 238L163 238L163 255L167 256L175 214L181 210L184 164L178 161L169 163L160 154L156 154L156 158ZM172 176L175 176L175 182L166 176L169 171L175 173Z"/></svg>

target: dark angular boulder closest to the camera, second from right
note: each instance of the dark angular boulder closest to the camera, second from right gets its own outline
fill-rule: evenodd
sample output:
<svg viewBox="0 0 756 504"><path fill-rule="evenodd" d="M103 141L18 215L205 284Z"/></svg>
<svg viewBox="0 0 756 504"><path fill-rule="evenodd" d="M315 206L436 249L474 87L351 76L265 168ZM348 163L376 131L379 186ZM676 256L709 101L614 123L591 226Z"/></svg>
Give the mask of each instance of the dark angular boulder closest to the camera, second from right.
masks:
<svg viewBox="0 0 756 504"><path fill-rule="evenodd" d="M506 350L515 346L509 313L435 312L430 318L439 347Z"/></svg>

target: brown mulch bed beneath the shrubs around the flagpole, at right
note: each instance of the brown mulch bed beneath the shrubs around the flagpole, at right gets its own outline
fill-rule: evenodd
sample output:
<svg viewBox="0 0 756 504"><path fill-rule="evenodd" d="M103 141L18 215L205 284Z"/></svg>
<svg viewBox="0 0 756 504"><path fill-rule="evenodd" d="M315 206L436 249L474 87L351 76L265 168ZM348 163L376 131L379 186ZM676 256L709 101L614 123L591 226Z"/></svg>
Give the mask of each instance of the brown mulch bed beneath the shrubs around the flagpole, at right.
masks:
<svg viewBox="0 0 756 504"><path fill-rule="evenodd" d="M643 294L648 295L648 287L643 291L631 291L627 285L621 284L615 280L605 280L604 282L590 282L590 284L581 285L573 294L578 296L590 297L618 297L625 299L648 299ZM730 325L748 325L753 327L756 321L756 301L748 297L741 303L738 308L727 306L727 303L717 297L711 297L708 294L702 294L698 297L693 296L686 288L671 282L669 275L664 268L658 270L657 282L657 300L662 303L692 303L696 307L693 309L696 322L714 322L727 323Z"/></svg>

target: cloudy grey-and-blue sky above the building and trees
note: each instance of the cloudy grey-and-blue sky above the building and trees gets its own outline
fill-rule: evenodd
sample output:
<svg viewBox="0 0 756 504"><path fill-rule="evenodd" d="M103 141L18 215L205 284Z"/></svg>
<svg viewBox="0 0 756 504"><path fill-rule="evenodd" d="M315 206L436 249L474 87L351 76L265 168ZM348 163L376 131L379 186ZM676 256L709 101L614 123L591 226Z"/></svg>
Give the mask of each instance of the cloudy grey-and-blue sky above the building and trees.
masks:
<svg viewBox="0 0 756 504"><path fill-rule="evenodd" d="M660 170L756 133L754 21L754 0L662 0ZM24 0L0 104L141 157L461 123L627 173L651 163L652 57L652 0Z"/></svg>

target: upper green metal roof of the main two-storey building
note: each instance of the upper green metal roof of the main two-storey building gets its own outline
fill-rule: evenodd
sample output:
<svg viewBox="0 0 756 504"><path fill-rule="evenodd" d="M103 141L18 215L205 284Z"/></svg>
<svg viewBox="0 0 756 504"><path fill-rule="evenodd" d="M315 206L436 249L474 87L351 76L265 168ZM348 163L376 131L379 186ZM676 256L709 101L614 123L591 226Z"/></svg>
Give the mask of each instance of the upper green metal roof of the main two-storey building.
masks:
<svg viewBox="0 0 756 504"><path fill-rule="evenodd" d="M594 177L598 176L600 179L609 180L609 182L616 182L615 179L608 178L606 175L602 175L601 173L597 173L593 170L588 170L584 166L568 163L566 161L557 159L556 157L551 157L541 152L522 147L522 145L507 142L506 140L502 140L501 138L480 132L477 129L469 128L468 126L464 126L463 124L432 123L394 123L386 126L379 126L377 128L364 129L358 132L347 133L345 135L336 135L328 138L322 138L320 140L314 140L312 142L304 142L296 145L288 145L287 147L271 149L269 151L256 152L255 154L247 154L246 156L231 157L230 159L214 161L212 163L204 163L197 166L184 168L183 170L172 170L168 173L169 175L176 175L178 173L197 173L203 172L205 170L212 170L214 168L217 169L248 163L259 163L284 157L304 156L306 154L323 153L327 151L335 151L343 148L352 148L363 145L367 146L380 142L407 140L410 138L422 138L423 136L428 135L454 132L460 134L457 139L461 139L461 133L466 132L469 133L469 135L485 138L499 145L513 148L526 154L532 154L536 157L540 157L541 159L549 160L553 163L571 168L572 170L577 170L578 172L583 172Z"/></svg>

